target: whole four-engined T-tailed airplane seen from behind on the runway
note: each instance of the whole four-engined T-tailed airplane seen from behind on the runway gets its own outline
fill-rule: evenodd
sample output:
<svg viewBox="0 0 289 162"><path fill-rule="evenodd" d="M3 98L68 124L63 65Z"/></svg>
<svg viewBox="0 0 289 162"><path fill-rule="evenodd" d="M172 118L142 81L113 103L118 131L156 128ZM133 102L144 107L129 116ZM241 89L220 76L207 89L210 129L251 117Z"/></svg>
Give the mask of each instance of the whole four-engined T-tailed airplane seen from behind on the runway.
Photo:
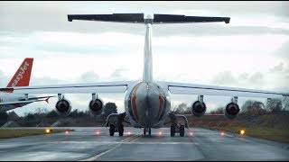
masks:
<svg viewBox="0 0 289 162"><path fill-rule="evenodd" d="M134 128L143 129L144 135L151 135L151 129L162 128L165 121L171 124L171 136L179 133L184 136L184 128L189 129L188 121L184 115L173 114L171 110L170 94L198 94L195 102L191 103L191 114L197 117L206 112L204 95L227 95L232 97L226 105L224 114L228 119L237 117L240 111L238 96L266 97L268 99L289 95L284 92L265 91L256 89L236 88L216 85L196 85L189 83L176 83L155 81L153 79L153 54L152 54L152 26L164 23L229 23L230 17L204 17L186 16L176 14L68 14L68 21L102 21L110 23L135 23L145 25L144 35L144 71L143 79L135 81L98 82L90 84L70 85L39 85L1 88L14 94L58 94L55 105L60 116L67 116L71 111L70 100L64 97L68 93L91 94L89 112L98 115L103 112L104 103L99 97L101 93L126 93L125 112L112 113L107 116L106 126L109 126L109 135L119 136L124 134L124 122Z"/></svg>

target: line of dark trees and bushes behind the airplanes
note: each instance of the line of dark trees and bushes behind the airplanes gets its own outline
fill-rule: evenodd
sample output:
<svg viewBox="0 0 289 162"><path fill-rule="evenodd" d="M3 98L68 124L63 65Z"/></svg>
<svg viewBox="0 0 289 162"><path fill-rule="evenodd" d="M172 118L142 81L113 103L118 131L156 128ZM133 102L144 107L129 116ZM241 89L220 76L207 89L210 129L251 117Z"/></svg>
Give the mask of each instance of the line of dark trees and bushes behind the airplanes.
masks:
<svg viewBox="0 0 289 162"><path fill-rule="evenodd" d="M211 110L209 113L223 113L225 106L219 106L218 108ZM262 103L254 100L247 100L241 107L240 114L247 114L248 118L252 115L262 115L262 114L289 114L289 98L285 97L282 99L271 99L266 103ZM191 113L191 105L187 103L180 103L174 107L172 107L171 112L176 114L190 114ZM98 115L98 119L106 120L107 116L111 113L117 113L117 105L116 103L106 103L104 111ZM89 110L87 111L78 111L78 109L70 112L68 117L71 118L85 118L85 119L95 119ZM23 117L19 117L17 121L23 122L23 124L27 123L39 123L44 119L59 119L55 110L48 111L44 108L37 108L35 112L26 113ZM14 121L13 112L9 114L7 112L0 113L0 126L5 124L6 121L12 120ZM23 125L26 126L26 125Z"/></svg>

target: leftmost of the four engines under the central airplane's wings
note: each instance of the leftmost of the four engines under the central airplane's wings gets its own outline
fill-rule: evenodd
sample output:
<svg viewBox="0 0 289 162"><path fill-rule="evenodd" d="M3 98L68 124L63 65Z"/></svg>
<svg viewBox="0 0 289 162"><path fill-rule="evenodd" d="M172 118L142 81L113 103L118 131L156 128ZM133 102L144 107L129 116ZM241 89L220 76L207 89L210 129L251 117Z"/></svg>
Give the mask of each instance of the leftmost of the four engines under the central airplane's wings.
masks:
<svg viewBox="0 0 289 162"><path fill-rule="evenodd" d="M70 114L71 112L71 103L70 100L66 98L62 98L55 104L56 112L61 116L61 117L66 117Z"/></svg>

